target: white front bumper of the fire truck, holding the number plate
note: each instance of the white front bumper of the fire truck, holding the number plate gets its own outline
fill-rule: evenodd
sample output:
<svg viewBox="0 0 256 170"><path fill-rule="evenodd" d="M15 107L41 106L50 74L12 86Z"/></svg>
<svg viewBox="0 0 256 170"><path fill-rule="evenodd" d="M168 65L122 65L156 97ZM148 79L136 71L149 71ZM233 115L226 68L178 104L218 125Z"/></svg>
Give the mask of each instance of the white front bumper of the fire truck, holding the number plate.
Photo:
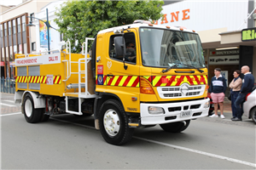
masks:
<svg viewBox="0 0 256 170"><path fill-rule="evenodd" d="M208 116L209 107L204 108L204 105L210 102L209 99L200 99L186 102L176 102L169 104L141 104L141 124L155 125L168 122L181 122L184 120L195 119L198 117ZM161 107L165 113L152 115L148 112L148 107ZM179 111L177 111L179 110ZM190 116L181 116L181 112L191 111Z"/></svg>

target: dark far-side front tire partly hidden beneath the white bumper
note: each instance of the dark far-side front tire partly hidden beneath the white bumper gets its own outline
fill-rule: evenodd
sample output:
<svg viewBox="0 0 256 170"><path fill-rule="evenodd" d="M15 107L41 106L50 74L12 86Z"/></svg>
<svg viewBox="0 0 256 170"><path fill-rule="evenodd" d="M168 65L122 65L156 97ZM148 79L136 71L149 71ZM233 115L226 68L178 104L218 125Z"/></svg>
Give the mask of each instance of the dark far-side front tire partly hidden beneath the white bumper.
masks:
<svg viewBox="0 0 256 170"><path fill-rule="evenodd" d="M170 122L166 124L160 124L160 127L168 133L180 133L189 127L190 120L185 121L186 125L183 122Z"/></svg>

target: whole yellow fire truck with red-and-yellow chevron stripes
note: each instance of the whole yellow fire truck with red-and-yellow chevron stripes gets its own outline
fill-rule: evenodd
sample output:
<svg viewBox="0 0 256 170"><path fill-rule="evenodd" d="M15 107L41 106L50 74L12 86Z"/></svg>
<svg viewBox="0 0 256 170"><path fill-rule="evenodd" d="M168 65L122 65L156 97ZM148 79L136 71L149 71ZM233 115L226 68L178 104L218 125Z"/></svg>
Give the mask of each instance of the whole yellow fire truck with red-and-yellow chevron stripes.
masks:
<svg viewBox="0 0 256 170"><path fill-rule="evenodd" d="M208 114L207 67L195 31L137 20L85 38L81 54L66 45L15 55L15 103L26 122L93 115L103 139L119 145L136 127L179 133Z"/></svg>

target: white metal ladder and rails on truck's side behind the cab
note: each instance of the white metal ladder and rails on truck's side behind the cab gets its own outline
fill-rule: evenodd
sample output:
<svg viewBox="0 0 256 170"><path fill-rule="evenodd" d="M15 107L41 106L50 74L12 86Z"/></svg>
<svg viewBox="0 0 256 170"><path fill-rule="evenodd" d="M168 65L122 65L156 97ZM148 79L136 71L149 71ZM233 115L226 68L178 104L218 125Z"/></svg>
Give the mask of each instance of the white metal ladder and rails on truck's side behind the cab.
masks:
<svg viewBox="0 0 256 170"><path fill-rule="evenodd" d="M68 52L67 54L69 55L69 59L62 60L62 62L67 63L67 78L66 80L63 80L63 82L67 82L67 80L71 77L73 74L78 74L79 75L79 83L78 84L70 84L67 85L70 86L70 88L79 88L78 93L64 93L63 95L66 98L66 112L71 113L74 115L83 115L81 111L81 105L84 99L92 99L96 98L96 94L90 94L88 91L88 63L90 62L91 58L87 58L88 54L88 41L94 41L94 38L86 37L85 42L82 44L82 55L84 55L84 58L79 59L79 61L73 61L72 60L72 55L71 55L71 49L70 49L70 42L66 42L66 47L68 47ZM71 64L78 64L79 65L79 72L73 72ZM81 65L84 64L84 71L81 70ZM81 82L81 78L84 76L85 81ZM82 92L82 88L84 88L84 92ZM69 111L68 110L68 99L79 99L79 111Z"/></svg>

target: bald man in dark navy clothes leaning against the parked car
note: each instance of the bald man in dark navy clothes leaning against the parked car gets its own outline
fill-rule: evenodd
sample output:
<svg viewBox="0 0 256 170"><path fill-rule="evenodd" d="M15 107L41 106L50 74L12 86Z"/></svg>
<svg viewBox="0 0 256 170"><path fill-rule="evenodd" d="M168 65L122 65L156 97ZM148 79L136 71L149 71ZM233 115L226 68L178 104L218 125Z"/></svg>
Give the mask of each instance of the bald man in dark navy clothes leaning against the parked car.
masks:
<svg viewBox="0 0 256 170"><path fill-rule="evenodd" d="M241 91L237 96L235 107L237 116L232 118L232 121L241 121L242 116L242 105L246 99L247 94L252 92L253 85L254 85L254 77L250 72L250 68L247 65L241 67L241 73L244 74L241 84Z"/></svg>

